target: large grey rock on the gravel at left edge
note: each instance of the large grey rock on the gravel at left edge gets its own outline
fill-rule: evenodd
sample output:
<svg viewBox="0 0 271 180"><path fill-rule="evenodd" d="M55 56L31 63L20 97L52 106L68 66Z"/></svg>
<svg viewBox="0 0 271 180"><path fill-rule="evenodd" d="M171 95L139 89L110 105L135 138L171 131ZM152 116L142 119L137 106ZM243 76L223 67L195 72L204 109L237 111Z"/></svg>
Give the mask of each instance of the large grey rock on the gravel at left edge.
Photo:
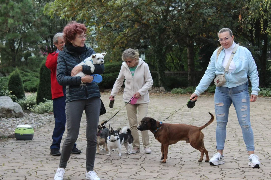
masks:
<svg viewBox="0 0 271 180"><path fill-rule="evenodd" d="M8 96L0 97L0 117L20 118L22 116L24 116L24 112L18 103L14 103Z"/></svg>

